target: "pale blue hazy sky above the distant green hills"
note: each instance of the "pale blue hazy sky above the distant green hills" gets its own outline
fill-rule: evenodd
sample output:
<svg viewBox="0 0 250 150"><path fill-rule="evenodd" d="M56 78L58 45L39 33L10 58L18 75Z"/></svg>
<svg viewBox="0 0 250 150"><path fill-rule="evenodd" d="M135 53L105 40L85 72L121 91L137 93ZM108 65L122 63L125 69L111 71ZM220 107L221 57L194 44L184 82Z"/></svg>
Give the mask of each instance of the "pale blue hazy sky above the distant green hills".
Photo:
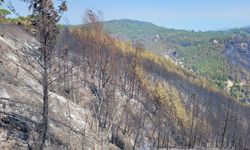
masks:
<svg viewBox="0 0 250 150"><path fill-rule="evenodd" d="M11 0L20 13L23 5ZM250 0L68 0L62 22L80 24L88 8L104 20L136 19L176 29L223 30L250 25ZM69 21L65 21L67 19Z"/></svg>

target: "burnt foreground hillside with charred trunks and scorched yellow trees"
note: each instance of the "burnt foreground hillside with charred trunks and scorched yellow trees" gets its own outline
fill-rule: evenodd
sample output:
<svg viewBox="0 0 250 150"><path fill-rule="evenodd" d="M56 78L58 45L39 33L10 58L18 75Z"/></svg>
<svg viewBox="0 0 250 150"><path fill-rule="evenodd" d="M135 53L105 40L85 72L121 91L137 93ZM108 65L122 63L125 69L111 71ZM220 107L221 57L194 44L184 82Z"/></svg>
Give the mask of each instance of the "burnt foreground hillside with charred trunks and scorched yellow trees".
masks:
<svg viewBox="0 0 250 150"><path fill-rule="evenodd" d="M60 31L47 149L249 148L249 106L95 27ZM0 148L28 149L41 120L39 44L23 27L1 29Z"/></svg>

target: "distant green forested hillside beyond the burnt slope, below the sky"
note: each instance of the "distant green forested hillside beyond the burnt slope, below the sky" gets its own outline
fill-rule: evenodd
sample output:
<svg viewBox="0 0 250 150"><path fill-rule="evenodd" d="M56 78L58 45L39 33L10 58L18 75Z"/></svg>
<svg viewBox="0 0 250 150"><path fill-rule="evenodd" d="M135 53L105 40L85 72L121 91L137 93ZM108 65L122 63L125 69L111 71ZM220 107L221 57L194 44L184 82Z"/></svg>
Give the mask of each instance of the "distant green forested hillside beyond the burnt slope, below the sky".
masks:
<svg viewBox="0 0 250 150"><path fill-rule="evenodd" d="M249 95L249 28L196 32L166 29L149 22L112 20L106 32L126 41L140 41L147 50L207 78L214 86L247 101ZM229 86L228 82L233 82Z"/></svg>

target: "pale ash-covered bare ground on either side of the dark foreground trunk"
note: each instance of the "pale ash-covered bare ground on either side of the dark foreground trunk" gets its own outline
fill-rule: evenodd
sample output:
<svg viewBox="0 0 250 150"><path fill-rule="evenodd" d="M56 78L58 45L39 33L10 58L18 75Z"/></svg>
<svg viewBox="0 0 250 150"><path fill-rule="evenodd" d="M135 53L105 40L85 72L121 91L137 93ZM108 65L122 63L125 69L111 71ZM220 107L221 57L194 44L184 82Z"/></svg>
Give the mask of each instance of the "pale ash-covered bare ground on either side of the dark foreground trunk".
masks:
<svg viewBox="0 0 250 150"><path fill-rule="evenodd" d="M20 26L1 25L0 32L0 149L31 149L40 130L42 88L15 52L37 50L39 44ZM91 91L84 89L83 96L91 98ZM49 108L45 149L108 149L89 127L89 109L54 92Z"/></svg>

